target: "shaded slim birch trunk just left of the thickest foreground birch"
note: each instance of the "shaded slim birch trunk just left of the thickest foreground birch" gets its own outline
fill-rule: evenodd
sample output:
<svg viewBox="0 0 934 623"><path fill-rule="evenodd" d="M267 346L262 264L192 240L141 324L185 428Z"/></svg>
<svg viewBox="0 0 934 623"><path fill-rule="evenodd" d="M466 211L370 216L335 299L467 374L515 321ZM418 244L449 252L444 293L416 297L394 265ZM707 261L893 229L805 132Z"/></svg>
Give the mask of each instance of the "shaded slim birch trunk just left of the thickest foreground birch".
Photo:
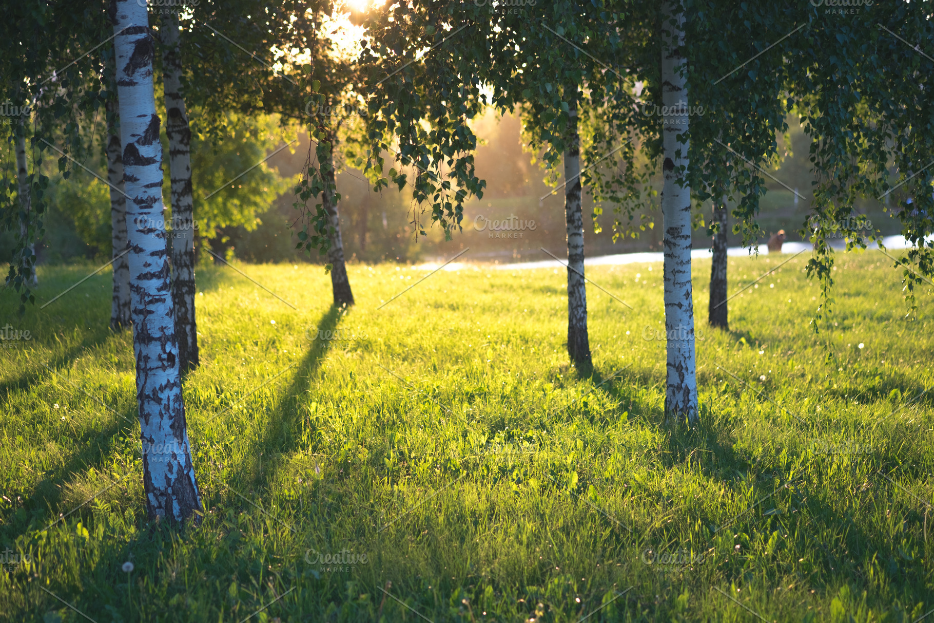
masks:
<svg viewBox="0 0 934 623"><path fill-rule="evenodd" d="M110 242L113 256L117 257L127 249L126 238L126 196L123 194L123 161L120 160L120 110L115 100L107 102L107 181L110 182ZM113 295L110 303L110 327L120 329L130 326L130 265L126 255L120 256L113 263Z"/></svg>

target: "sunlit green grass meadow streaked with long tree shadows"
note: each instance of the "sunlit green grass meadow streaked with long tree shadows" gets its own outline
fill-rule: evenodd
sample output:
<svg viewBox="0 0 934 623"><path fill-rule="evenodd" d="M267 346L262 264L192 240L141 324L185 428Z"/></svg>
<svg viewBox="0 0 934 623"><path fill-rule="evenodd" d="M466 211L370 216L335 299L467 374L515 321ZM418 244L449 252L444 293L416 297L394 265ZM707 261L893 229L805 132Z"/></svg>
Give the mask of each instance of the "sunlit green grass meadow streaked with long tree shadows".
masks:
<svg viewBox="0 0 934 623"><path fill-rule="evenodd" d="M787 257L730 258L730 292ZM557 622L606 604L587 621L913 621L934 608L932 297L906 319L891 260L839 255L815 336L805 261L733 298L730 332L707 326L695 263L689 430L664 425L665 345L644 340L660 264L587 268L633 308L588 288L592 375L568 365L562 270L439 271L377 311L425 273L355 265L345 312L320 268L239 267L298 311L202 269L184 384L197 529L146 520L109 275L22 320L5 293L4 323L32 339L0 350L0 548L29 560L0 575L0 612L86 620L57 597L98 623L241 621L281 597L251 620ZM90 270L45 268L39 294ZM313 564L342 550L366 561Z"/></svg>

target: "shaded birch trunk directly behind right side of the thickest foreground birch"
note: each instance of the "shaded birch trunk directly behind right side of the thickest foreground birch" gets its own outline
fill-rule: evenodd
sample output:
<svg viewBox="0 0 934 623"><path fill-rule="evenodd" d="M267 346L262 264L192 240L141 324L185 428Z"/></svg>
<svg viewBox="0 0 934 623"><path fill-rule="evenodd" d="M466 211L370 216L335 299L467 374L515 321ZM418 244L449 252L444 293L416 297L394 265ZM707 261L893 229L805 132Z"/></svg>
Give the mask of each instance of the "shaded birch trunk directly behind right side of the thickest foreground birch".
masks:
<svg viewBox="0 0 934 623"><path fill-rule="evenodd" d="M178 18L163 16L163 86L165 134L169 139L172 179L172 302L175 306L178 358L182 371L198 365L198 330L194 320L194 197L191 195L191 128L181 96Z"/></svg>

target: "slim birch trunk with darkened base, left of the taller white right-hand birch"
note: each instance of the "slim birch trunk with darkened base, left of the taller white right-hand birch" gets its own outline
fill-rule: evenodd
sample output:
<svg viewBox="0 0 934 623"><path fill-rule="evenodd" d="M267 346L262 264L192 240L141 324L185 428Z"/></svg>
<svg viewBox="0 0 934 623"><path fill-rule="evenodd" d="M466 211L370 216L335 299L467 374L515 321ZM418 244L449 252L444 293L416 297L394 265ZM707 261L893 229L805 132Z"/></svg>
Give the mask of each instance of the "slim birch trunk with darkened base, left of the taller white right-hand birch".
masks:
<svg viewBox="0 0 934 623"><path fill-rule="evenodd" d="M584 215L581 213L580 136L577 134L577 86L568 97L564 150L564 217L568 236L568 355L578 369L590 366L587 339L587 286L584 280Z"/></svg>

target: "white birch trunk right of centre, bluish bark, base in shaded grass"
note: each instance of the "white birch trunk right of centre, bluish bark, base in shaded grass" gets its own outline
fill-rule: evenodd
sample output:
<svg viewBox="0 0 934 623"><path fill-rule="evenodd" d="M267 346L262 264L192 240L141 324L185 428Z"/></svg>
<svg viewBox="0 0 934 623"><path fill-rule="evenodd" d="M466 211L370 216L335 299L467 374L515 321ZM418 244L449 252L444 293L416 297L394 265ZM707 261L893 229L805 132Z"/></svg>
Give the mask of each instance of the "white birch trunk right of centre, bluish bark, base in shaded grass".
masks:
<svg viewBox="0 0 934 623"><path fill-rule="evenodd" d="M662 10L661 101L673 110L687 107L684 12L678 0L666 0ZM673 23L672 23L673 22ZM698 389L694 351L694 299L691 288L691 196L685 180L687 115L665 117L662 166L664 187L661 212L665 248L665 329L667 381L665 413L675 422L698 418ZM681 122L681 123L678 123Z"/></svg>

